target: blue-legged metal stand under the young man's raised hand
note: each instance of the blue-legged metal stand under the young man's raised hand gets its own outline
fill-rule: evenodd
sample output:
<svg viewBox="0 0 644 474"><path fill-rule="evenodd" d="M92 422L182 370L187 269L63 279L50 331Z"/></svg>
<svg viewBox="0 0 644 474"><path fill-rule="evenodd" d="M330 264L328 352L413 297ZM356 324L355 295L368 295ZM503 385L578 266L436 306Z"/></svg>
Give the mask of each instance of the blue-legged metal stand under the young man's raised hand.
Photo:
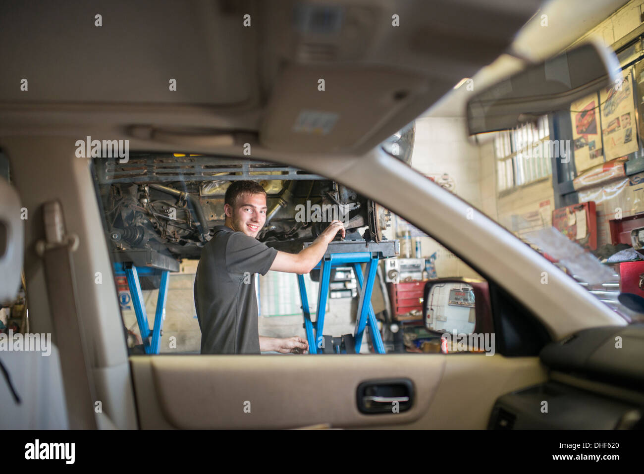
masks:
<svg viewBox="0 0 644 474"><path fill-rule="evenodd" d="M375 319L374 308L371 304L372 290L374 289L375 274L378 269L378 262L381 258L389 258L399 254L399 241L389 240L380 243L365 241L345 241L331 242L328 245L327 253L322 260L314 267L320 270L319 292L317 294L317 314L316 321L311 321L310 310L308 308L307 289L304 284L304 276L298 275L299 295L302 302L302 312L304 316L304 328L307 333L308 352L309 354L321 354L319 350L325 340L324 317L327 308L327 298L331 280L331 269L339 266L351 265L355 272L360 290L358 302L358 311L355 324L355 354L359 354L362 346L363 334L365 328L370 328L370 337L374 345L375 352L384 354L383 339L378 329ZM366 263L365 277L360 267L361 263ZM366 278L366 281L365 281ZM327 340L329 337L327 336ZM328 351L327 351L328 352ZM334 347L334 352L339 352L338 347Z"/></svg>

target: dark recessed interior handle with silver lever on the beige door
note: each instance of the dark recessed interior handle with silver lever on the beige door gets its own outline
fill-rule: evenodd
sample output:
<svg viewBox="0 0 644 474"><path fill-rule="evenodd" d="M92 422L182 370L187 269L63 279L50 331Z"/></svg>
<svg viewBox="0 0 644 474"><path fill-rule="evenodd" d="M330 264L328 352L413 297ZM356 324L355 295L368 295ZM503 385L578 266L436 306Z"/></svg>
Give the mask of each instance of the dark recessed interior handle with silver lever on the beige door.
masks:
<svg viewBox="0 0 644 474"><path fill-rule="evenodd" d="M410 379L367 381L358 385L356 395L362 413L400 413L412 408L413 383Z"/></svg>

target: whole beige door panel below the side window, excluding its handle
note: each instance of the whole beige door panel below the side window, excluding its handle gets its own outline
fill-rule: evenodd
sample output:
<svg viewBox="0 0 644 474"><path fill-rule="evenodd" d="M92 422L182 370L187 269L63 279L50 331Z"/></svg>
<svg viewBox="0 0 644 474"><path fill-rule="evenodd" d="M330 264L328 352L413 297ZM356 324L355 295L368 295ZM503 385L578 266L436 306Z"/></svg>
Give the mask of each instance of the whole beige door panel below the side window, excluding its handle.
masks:
<svg viewBox="0 0 644 474"><path fill-rule="evenodd" d="M136 355L130 363L144 429L485 428L499 395L546 378L537 357L498 354ZM393 378L412 381L412 408L360 413L357 386Z"/></svg>

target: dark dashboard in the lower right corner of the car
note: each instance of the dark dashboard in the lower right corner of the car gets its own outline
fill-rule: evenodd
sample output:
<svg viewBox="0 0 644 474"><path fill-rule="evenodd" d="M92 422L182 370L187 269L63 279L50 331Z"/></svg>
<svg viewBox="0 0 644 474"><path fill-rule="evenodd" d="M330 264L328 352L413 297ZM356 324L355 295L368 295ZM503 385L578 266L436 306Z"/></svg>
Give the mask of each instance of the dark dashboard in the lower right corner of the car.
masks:
<svg viewBox="0 0 644 474"><path fill-rule="evenodd" d="M549 380L498 397L488 429L644 429L644 325L583 330L539 357Z"/></svg>

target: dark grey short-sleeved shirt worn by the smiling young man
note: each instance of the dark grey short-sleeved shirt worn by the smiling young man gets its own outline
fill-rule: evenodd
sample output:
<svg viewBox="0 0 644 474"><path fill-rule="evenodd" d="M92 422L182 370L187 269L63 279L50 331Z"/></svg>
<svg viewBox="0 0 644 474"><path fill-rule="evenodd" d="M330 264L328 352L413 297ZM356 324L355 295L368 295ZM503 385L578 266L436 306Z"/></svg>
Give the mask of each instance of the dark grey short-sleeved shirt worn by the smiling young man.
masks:
<svg viewBox="0 0 644 474"><path fill-rule="evenodd" d="M194 278L201 352L260 354L254 274L267 274L278 251L225 225L214 231Z"/></svg>

